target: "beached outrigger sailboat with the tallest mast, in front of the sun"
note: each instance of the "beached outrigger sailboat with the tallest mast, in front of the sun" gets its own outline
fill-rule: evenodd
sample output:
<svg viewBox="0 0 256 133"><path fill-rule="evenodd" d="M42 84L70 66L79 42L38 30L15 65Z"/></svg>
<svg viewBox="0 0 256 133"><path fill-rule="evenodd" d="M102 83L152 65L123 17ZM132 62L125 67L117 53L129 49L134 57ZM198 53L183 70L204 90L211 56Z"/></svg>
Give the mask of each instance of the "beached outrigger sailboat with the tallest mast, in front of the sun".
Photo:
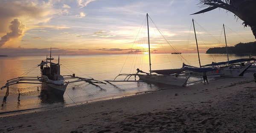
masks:
<svg viewBox="0 0 256 133"><path fill-rule="evenodd" d="M148 14L146 15L147 17L147 26L148 26ZM162 83L162 84L167 84L167 85L174 85L174 86L186 86L187 80L189 79L188 77L185 78L180 78L176 77L174 75L162 75L162 74L152 74L154 71L151 70L151 58L150 58L150 42L149 42L149 27L148 28L148 56L149 56L149 73L143 72L140 69L137 69L137 73L135 74L119 74L116 76L125 76L124 80L105 80L106 82L146 82L146 83ZM175 73L179 73L180 69L175 69ZM134 76L135 80L130 80L131 77ZM140 79L136 80L136 76L138 76ZM111 83L112 84L112 83Z"/></svg>

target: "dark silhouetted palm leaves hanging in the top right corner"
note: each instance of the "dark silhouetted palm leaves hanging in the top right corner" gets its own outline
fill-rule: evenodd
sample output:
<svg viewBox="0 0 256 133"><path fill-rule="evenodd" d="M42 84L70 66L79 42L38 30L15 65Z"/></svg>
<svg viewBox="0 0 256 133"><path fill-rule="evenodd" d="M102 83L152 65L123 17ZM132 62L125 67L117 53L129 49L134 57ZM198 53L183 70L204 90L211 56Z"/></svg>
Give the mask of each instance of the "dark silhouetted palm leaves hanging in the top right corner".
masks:
<svg viewBox="0 0 256 133"><path fill-rule="evenodd" d="M244 21L244 26L250 26L256 38L256 0L199 0L199 5L204 10L194 14L212 11L215 8L223 8L235 14ZM191 15L194 15L191 14Z"/></svg>

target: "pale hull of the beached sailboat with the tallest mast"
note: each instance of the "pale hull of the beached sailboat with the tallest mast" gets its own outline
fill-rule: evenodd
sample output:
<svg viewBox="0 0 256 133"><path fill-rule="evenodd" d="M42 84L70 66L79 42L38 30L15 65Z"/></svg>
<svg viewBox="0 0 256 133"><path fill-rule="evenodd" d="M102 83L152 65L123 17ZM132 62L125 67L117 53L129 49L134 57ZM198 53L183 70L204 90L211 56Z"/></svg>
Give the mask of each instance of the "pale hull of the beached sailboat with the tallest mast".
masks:
<svg viewBox="0 0 256 133"><path fill-rule="evenodd" d="M175 78L169 75L138 75L140 80L147 83L162 83L173 86L186 86L187 78Z"/></svg>

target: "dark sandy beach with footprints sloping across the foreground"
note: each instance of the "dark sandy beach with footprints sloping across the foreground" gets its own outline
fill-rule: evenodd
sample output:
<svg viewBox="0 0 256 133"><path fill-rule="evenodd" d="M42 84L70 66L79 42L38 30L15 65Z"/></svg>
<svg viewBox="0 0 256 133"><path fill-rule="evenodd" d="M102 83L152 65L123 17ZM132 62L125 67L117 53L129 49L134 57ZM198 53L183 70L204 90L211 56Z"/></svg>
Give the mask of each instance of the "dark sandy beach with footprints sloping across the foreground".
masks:
<svg viewBox="0 0 256 133"><path fill-rule="evenodd" d="M256 133L255 109L256 83L249 75L1 116L0 132Z"/></svg>

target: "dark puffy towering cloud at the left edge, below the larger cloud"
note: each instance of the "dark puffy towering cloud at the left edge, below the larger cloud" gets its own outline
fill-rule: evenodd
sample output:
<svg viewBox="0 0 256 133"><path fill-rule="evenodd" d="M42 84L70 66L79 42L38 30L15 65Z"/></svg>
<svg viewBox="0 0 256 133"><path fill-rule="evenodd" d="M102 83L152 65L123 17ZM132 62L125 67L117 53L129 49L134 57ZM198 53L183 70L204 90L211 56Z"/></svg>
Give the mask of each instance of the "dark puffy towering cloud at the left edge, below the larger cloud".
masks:
<svg viewBox="0 0 256 133"><path fill-rule="evenodd" d="M1 37L0 47L3 46L12 38L18 38L23 35L25 25L23 25L18 19L13 19L11 25L9 26L11 32L6 33L6 35Z"/></svg>

